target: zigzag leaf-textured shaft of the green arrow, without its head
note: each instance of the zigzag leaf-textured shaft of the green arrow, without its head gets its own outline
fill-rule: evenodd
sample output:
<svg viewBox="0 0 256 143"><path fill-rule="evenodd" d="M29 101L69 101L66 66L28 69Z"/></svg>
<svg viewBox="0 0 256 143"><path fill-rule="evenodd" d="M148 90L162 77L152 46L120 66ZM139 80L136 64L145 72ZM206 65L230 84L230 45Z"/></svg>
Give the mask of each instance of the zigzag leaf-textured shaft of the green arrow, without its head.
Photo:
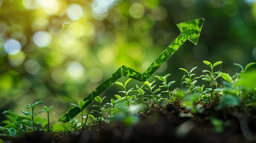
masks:
<svg viewBox="0 0 256 143"><path fill-rule="evenodd" d="M165 51L163 51L155 60L154 62L149 66L148 69L146 69L146 71L141 74L137 71L135 71L134 69L131 69L130 67L126 67L125 65L122 65L121 67L119 67L117 69L117 71L114 72L114 74L112 74L109 78L107 78L105 81L103 81L103 83L101 83L98 87L96 87L96 89L94 89L88 96L86 96L83 101L87 101L89 100L85 106L89 106L93 101L94 98L96 96L99 96L102 94L103 91L107 90L111 85L114 84L114 82L116 82L117 80L119 80L119 78L126 76L128 78L133 78L135 80L141 81L141 82L145 82L146 80L149 79L150 76L152 76L152 74L157 71L157 69L159 67L161 67L163 65L163 63L165 63L165 61L167 61L171 55L173 55L175 53L175 51L177 51L177 49L179 47L181 47L181 45L186 41L187 39L183 36L183 34L181 33L166 49ZM114 82L113 82L114 81ZM72 107L71 109L69 109L68 112L66 112L66 114L62 115L59 118L59 121L63 121L63 122L68 122L70 121L72 118L74 118L76 115L78 115L80 113L80 109L76 106Z"/></svg>

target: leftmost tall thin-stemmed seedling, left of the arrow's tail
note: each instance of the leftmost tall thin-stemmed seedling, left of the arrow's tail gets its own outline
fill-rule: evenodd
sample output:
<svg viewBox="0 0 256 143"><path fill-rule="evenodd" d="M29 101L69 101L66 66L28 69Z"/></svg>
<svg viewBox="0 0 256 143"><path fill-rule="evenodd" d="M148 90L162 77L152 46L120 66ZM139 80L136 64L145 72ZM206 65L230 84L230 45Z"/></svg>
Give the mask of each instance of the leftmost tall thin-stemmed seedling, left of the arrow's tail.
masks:
<svg viewBox="0 0 256 143"><path fill-rule="evenodd" d="M40 111L34 113L34 109L37 107L37 105L38 105L39 103L42 103L42 102L43 102L43 101L37 101L37 102L33 103L32 105L27 104L27 105L25 106L25 108L31 109L31 110L32 110L31 112L26 112L26 111L21 110L21 112L22 112L23 114L25 114L26 116L30 116L30 117L31 117L31 119L32 119L32 125L33 125L33 130L35 130L35 123L34 123L34 117L35 117L35 115L36 115L36 114L39 114L39 113L41 113L41 112L45 112L45 111L46 111L46 110L40 110Z"/></svg>

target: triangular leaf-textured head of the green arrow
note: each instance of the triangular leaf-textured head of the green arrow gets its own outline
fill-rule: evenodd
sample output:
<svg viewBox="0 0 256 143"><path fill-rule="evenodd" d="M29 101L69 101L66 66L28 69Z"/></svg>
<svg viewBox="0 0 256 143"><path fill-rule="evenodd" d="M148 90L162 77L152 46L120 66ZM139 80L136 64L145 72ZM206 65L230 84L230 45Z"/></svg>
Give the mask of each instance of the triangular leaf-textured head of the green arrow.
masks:
<svg viewBox="0 0 256 143"><path fill-rule="evenodd" d="M181 33L184 37L190 40L192 43L197 45L198 38L203 26L204 19L190 20L177 24L178 28L181 30Z"/></svg>

